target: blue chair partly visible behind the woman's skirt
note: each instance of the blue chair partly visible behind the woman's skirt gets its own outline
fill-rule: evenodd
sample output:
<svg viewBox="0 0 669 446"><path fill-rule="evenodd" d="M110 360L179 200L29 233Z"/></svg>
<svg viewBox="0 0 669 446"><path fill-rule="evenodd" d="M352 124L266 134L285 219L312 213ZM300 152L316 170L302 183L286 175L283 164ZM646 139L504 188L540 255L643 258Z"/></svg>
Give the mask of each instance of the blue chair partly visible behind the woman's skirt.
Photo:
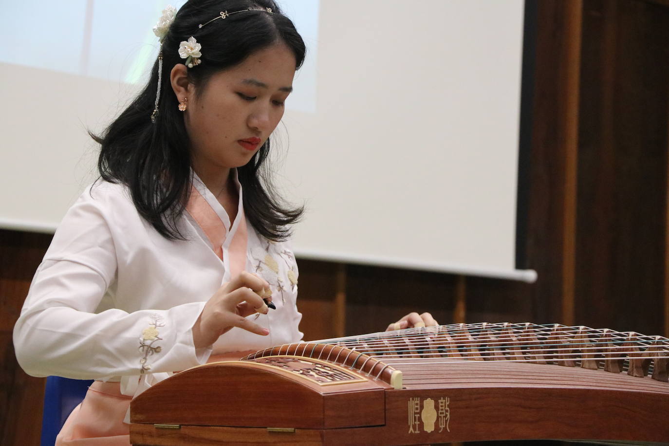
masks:
<svg viewBox="0 0 669 446"><path fill-rule="evenodd" d="M82 402L93 380L49 376L44 388L41 446L54 446L56 435L72 410Z"/></svg>

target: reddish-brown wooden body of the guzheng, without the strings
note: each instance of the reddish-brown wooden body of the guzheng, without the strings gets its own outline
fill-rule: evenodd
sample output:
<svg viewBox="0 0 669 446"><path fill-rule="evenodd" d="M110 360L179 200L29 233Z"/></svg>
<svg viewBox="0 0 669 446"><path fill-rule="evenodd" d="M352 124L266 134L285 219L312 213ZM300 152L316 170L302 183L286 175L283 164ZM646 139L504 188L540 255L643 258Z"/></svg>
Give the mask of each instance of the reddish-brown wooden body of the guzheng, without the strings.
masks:
<svg viewBox="0 0 669 446"><path fill-rule="evenodd" d="M131 432L147 444L181 438L177 431L194 425L200 430L192 432L204 438L219 435L220 427L307 429L308 441L317 441L318 432L325 445L669 440L669 383L648 376L509 360L402 358L392 364L402 370L404 386L393 389L365 374L355 378L356 372L336 379L296 374L301 364L321 362L305 357L290 372L284 360L296 358L262 356L172 376L132 402ZM316 376L341 382L321 385ZM145 426L153 423L179 429ZM225 441L253 441L252 434L271 441L262 429L236 432L240 437L228 431Z"/></svg>

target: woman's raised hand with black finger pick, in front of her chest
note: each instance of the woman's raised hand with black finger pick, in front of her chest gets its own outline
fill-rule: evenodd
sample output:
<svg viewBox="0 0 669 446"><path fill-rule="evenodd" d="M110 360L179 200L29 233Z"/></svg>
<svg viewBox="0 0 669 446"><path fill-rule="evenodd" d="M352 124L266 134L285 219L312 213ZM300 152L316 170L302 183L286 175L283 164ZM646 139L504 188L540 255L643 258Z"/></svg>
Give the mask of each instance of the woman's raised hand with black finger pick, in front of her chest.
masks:
<svg viewBox="0 0 669 446"><path fill-rule="evenodd" d="M270 284L257 275L242 271L227 284L221 286L205 304L193 325L195 348L211 346L233 327L243 328L255 334L267 336L270 330L246 319L254 313L267 314L268 307L257 293L265 290L269 294ZM271 301L271 296L266 298Z"/></svg>

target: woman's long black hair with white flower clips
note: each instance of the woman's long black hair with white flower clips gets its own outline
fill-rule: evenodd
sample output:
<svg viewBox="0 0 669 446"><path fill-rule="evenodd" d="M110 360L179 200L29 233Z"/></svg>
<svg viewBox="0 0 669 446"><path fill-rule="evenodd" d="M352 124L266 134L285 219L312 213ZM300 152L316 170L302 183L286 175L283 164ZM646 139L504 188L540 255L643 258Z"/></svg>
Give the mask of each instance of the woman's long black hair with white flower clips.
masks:
<svg viewBox="0 0 669 446"><path fill-rule="evenodd" d="M272 13L255 11L271 8ZM221 11L242 11L200 28ZM147 86L101 136L91 134L102 146L98 158L100 177L123 183L130 191L138 213L167 239L183 239L177 219L191 191L190 142L183 114L169 82L179 57L179 43L195 37L206 48L202 64L188 70L189 82L203 91L207 81L221 70L242 63L249 55L285 43L295 55L297 70L304 62L305 47L292 21L272 0L189 0L177 13L163 40L163 73L159 113L151 121L158 86L158 59ZM246 165L237 169L244 189L244 213L264 237L281 241L290 235L288 225L297 221L303 207L291 208L272 188L270 170L264 161L270 140Z"/></svg>

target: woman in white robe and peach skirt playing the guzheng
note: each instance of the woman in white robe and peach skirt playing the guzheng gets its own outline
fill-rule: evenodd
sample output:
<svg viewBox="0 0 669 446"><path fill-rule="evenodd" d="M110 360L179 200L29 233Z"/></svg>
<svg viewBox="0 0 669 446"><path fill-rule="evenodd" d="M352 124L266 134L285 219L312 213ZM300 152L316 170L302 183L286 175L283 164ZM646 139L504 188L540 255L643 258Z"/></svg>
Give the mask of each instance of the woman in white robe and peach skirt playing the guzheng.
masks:
<svg viewBox="0 0 669 446"><path fill-rule="evenodd" d="M59 445L128 445L130 400L152 384L302 338L288 241L302 209L277 198L266 158L304 42L270 0L191 0L154 32L149 83L94 137L100 179L56 231L14 330L29 374L95 380ZM389 329L418 324L436 322Z"/></svg>

